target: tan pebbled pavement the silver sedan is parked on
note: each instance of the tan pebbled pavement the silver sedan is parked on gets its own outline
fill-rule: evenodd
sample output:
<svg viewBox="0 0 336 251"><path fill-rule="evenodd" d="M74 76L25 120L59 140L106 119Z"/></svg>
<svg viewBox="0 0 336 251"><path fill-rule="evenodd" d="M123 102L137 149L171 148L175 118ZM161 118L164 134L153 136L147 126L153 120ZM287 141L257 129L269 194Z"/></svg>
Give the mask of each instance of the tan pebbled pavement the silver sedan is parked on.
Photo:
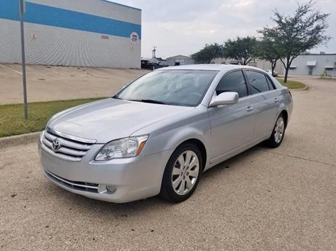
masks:
<svg viewBox="0 0 336 251"><path fill-rule="evenodd" d="M0 250L336 250L336 82L303 78L280 148L204 173L188 201L94 201L48 182L36 144L0 151Z"/></svg>

